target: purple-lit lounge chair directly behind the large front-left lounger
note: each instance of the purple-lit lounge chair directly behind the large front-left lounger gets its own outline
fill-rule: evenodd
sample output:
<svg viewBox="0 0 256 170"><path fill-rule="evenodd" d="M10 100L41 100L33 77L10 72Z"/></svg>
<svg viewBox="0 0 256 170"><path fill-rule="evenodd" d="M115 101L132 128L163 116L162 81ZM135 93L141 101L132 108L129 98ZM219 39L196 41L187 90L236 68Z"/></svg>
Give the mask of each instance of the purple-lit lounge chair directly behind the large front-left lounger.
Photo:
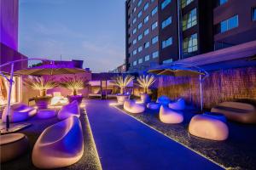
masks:
<svg viewBox="0 0 256 170"><path fill-rule="evenodd" d="M62 106L58 113L58 118L60 120L67 119L70 116L80 116L79 102L77 100L74 100L68 105Z"/></svg>

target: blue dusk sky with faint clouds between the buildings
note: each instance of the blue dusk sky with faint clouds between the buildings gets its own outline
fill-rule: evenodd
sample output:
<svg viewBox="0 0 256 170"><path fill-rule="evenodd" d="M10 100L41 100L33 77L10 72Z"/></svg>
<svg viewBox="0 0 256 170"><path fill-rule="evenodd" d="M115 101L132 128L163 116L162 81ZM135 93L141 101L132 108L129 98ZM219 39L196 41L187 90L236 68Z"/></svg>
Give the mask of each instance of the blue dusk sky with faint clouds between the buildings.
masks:
<svg viewBox="0 0 256 170"><path fill-rule="evenodd" d="M20 0L19 51L82 59L109 71L125 59L125 0Z"/></svg>

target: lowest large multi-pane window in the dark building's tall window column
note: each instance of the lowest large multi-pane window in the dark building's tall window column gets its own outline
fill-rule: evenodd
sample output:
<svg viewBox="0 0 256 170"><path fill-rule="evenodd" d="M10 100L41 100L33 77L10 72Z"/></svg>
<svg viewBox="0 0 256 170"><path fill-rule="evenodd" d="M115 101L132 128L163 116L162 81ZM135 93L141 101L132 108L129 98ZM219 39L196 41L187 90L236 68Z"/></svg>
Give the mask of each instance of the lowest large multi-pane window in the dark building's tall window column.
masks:
<svg viewBox="0 0 256 170"><path fill-rule="evenodd" d="M197 51L197 33L183 39L183 53L189 54Z"/></svg>

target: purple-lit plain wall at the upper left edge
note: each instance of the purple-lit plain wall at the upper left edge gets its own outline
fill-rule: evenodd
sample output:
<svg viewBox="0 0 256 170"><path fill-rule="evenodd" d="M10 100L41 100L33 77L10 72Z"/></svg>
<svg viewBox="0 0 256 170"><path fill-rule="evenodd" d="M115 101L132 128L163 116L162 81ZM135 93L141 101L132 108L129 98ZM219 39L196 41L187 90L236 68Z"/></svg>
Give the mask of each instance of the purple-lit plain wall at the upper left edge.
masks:
<svg viewBox="0 0 256 170"><path fill-rule="evenodd" d="M0 0L0 42L18 49L19 0Z"/></svg>

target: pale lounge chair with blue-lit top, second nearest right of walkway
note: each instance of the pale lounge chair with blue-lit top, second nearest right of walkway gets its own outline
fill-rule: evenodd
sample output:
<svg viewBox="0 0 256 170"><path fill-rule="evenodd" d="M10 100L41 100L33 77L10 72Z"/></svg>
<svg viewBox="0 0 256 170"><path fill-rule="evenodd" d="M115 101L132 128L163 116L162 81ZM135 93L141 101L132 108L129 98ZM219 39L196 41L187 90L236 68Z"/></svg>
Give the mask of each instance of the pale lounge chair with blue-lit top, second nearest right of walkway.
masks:
<svg viewBox="0 0 256 170"><path fill-rule="evenodd" d="M183 113L180 111L174 111L167 106L161 105L159 118L164 123L181 123L183 122Z"/></svg>

